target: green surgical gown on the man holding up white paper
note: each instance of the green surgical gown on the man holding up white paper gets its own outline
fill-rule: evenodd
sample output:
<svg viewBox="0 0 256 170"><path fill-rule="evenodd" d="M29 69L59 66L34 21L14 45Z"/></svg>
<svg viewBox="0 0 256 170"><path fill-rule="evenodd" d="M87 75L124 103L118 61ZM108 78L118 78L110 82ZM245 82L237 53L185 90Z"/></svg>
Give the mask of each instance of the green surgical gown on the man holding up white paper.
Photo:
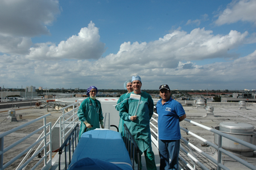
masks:
<svg viewBox="0 0 256 170"><path fill-rule="evenodd" d="M134 92L129 93L127 98L130 97L131 94L134 94ZM141 95L140 101L131 98L123 101L119 110L119 115L123 120L126 121L126 126L129 128L142 154L147 150L147 148L152 150L150 119L154 112L154 102L151 96L146 92L142 92L138 95ZM135 115L136 110L136 121L130 121L129 116Z"/></svg>

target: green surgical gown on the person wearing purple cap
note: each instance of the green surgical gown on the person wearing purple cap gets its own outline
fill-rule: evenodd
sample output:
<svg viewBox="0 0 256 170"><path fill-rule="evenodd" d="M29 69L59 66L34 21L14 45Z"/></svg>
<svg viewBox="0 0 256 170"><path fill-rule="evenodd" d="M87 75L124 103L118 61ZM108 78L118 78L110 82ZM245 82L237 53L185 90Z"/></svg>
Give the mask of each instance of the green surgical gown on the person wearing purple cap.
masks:
<svg viewBox="0 0 256 170"><path fill-rule="evenodd" d="M84 121L87 121L88 123L90 123L90 125L93 125L93 127L87 128L86 131L100 128L99 122L104 118L102 115L100 101L98 101L97 99L94 100L90 97L84 99L79 107L79 110L77 111L77 116L79 117L79 121L81 121L81 127L79 132L80 139L86 128Z"/></svg>

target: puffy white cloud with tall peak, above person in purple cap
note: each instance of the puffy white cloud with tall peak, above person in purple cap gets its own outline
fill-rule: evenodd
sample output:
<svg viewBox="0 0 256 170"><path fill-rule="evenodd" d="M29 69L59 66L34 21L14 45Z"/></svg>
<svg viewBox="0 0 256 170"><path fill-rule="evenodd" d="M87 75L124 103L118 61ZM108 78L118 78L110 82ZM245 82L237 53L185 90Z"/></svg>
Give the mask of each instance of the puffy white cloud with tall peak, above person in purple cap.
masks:
<svg viewBox="0 0 256 170"><path fill-rule="evenodd" d="M73 35L57 46L53 43L35 44L30 48L28 59L98 59L105 52L105 44L100 42L98 28L92 21L88 27L81 28L78 35Z"/></svg>

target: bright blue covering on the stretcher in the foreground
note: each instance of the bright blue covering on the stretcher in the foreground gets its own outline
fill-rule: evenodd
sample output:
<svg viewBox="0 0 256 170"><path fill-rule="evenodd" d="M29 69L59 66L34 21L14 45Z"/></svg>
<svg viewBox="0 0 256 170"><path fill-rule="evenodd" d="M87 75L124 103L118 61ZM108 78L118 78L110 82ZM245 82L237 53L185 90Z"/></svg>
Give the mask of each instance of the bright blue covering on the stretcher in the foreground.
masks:
<svg viewBox="0 0 256 170"><path fill-rule="evenodd" d="M82 134L68 169L133 168L121 134L96 129Z"/></svg>

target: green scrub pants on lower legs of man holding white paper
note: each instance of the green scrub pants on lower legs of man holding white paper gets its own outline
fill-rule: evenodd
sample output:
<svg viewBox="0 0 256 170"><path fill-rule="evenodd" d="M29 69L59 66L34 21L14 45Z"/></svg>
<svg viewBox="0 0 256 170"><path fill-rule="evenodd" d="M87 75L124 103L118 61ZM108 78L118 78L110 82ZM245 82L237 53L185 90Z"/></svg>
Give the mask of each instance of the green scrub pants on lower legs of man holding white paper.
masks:
<svg viewBox="0 0 256 170"><path fill-rule="evenodd" d="M150 148L148 147L146 151L144 151L144 156L146 160L146 167L147 170L156 170L156 165L155 165L155 155L154 152L150 151ZM139 169L142 169L142 163L141 163L141 155L139 155Z"/></svg>

